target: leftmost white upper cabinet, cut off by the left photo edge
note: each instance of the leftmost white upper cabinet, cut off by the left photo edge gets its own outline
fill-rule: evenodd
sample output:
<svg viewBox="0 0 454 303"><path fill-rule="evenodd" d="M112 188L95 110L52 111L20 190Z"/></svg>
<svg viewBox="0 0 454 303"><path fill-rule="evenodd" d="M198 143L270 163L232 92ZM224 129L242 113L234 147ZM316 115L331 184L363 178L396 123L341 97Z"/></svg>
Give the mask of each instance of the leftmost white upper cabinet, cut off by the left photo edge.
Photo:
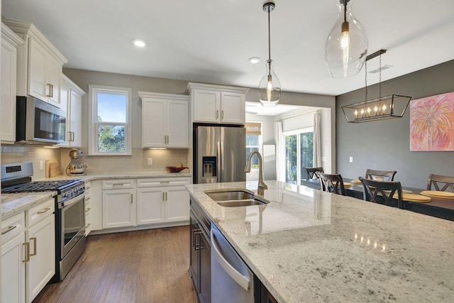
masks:
<svg viewBox="0 0 454 303"><path fill-rule="evenodd" d="M1 24L0 141L16 141L16 66L17 48L23 40Z"/></svg>

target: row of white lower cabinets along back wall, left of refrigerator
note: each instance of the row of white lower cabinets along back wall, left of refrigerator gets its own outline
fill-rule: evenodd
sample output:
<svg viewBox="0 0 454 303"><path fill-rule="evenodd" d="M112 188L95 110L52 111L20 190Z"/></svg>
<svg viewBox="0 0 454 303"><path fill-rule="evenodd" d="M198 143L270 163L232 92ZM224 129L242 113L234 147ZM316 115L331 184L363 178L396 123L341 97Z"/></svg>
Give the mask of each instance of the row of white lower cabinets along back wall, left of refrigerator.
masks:
<svg viewBox="0 0 454 303"><path fill-rule="evenodd" d="M94 233L184 224L189 222L184 184L190 182L190 177L92 180L85 219Z"/></svg>

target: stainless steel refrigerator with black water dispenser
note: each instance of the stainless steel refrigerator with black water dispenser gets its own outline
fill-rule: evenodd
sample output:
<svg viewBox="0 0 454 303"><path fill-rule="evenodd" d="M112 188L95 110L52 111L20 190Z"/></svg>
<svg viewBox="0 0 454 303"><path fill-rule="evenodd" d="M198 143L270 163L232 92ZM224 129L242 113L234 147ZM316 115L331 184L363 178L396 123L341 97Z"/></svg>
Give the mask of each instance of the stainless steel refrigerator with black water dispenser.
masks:
<svg viewBox="0 0 454 303"><path fill-rule="evenodd" d="M197 126L193 138L194 183L246 180L245 128Z"/></svg>

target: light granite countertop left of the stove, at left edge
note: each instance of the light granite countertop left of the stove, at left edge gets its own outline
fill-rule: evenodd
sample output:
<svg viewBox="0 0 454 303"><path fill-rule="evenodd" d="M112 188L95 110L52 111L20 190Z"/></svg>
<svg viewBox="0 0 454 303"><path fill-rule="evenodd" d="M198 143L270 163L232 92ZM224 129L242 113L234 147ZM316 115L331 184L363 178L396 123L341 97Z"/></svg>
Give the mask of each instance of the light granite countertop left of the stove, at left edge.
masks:
<svg viewBox="0 0 454 303"><path fill-rule="evenodd" d="M1 220L7 219L54 197L57 192L22 192L1 194Z"/></svg>

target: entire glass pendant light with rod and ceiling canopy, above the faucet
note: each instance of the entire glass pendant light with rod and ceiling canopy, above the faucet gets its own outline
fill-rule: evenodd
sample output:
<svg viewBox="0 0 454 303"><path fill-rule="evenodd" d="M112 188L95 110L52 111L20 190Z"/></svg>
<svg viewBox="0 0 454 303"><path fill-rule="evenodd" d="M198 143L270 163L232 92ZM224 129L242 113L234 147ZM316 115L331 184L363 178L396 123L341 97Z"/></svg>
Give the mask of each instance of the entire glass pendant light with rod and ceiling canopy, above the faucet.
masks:
<svg viewBox="0 0 454 303"><path fill-rule="evenodd" d="M281 99L281 83L273 70L271 60L271 39L270 39L270 12L275 9L274 2L263 4L263 11L268 13L268 60L266 63L266 75L262 77L258 84L258 99L262 106L276 106Z"/></svg>

